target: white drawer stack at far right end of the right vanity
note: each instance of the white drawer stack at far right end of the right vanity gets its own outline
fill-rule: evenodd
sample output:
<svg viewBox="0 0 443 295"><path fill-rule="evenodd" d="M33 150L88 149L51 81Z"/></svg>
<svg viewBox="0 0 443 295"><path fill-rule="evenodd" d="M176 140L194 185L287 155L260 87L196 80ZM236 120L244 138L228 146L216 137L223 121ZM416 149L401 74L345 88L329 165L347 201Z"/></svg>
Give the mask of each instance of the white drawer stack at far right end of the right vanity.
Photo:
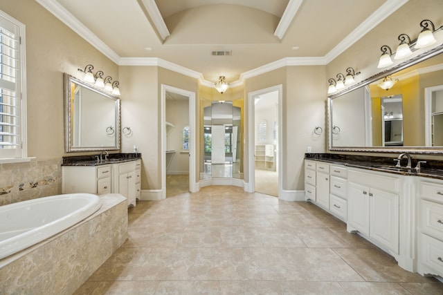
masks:
<svg viewBox="0 0 443 295"><path fill-rule="evenodd" d="M443 276L443 181L421 179L419 189L419 274Z"/></svg>

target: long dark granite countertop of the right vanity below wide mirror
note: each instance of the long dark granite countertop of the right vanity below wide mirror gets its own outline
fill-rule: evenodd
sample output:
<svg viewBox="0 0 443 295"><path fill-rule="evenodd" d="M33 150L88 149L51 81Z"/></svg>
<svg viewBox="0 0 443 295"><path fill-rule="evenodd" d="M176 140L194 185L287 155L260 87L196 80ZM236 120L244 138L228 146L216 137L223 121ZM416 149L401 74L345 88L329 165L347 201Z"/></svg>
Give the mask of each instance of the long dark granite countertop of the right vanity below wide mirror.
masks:
<svg viewBox="0 0 443 295"><path fill-rule="evenodd" d="M305 153L306 160L316 160L330 164L342 164L348 167L395 173L400 175L413 175L426 178L443 180L443 160L423 160L413 156L412 167L418 161L426 161L419 170L406 169L407 159L401 160L401 168L395 167L397 157L372 157L367 155L338 155L333 153Z"/></svg>

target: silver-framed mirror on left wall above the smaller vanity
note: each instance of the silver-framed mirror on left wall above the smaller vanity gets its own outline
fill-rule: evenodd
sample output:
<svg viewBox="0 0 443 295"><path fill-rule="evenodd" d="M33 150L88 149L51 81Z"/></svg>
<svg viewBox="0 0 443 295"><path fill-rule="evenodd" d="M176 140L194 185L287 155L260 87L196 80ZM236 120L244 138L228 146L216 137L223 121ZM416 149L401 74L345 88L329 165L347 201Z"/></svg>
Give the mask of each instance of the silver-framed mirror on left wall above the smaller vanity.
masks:
<svg viewBox="0 0 443 295"><path fill-rule="evenodd" d="M64 74L65 150L120 149L120 99Z"/></svg>

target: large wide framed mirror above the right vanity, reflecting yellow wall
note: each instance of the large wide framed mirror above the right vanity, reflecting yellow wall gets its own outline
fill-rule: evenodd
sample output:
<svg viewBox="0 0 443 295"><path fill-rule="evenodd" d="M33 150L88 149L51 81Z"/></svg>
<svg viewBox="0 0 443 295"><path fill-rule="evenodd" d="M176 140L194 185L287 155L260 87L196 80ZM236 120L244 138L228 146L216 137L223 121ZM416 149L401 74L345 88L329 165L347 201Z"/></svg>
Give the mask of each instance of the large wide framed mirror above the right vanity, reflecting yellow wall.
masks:
<svg viewBox="0 0 443 295"><path fill-rule="evenodd" d="M442 53L443 45L437 46L328 97L328 149L443 153L443 142L432 140L443 137L443 129L433 125L440 124L439 108L432 111L443 101L438 93L443 89ZM384 77L394 86L379 87Z"/></svg>

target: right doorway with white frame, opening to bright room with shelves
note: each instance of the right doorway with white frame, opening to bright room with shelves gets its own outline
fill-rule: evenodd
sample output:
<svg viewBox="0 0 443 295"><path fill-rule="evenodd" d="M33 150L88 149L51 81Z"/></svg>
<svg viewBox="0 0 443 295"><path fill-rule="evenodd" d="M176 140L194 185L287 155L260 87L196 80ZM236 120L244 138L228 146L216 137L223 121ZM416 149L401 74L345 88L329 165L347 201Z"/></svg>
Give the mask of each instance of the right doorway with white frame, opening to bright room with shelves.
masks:
<svg viewBox="0 0 443 295"><path fill-rule="evenodd" d="M269 196L281 196L282 86L249 94L251 189Z"/></svg>

